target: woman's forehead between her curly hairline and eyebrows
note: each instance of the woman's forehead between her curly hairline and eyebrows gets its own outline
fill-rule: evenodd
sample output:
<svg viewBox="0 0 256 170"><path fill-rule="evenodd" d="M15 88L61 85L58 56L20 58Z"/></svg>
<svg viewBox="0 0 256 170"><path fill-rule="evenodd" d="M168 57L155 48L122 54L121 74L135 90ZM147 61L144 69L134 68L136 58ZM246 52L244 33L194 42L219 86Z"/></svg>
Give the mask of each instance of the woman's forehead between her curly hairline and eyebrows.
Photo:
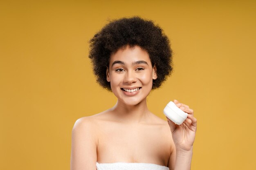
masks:
<svg viewBox="0 0 256 170"><path fill-rule="evenodd" d="M132 62L139 60L146 61L148 64L151 64L148 52L141 49L140 46L126 46L124 49L119 49L116 53L110 55L110 66L116 60L122 61L125 64L131 64Z"/></svg>

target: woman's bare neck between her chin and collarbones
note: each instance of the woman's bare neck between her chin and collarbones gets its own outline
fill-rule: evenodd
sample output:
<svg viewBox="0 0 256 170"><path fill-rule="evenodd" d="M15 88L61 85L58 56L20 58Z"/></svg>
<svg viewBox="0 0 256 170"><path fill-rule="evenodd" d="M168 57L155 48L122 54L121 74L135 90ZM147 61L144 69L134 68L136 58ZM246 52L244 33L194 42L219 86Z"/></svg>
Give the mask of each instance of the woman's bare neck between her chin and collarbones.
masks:
<svg viewBox="0 0 256 170"><path fill-rule="evenodd" d="M118 121L124 121L126 123L142 123L149 119L150 111L148 110L146 99L141 101L137 105L126 105L121 101L117 101L112 108L112 113Z"/></svg>

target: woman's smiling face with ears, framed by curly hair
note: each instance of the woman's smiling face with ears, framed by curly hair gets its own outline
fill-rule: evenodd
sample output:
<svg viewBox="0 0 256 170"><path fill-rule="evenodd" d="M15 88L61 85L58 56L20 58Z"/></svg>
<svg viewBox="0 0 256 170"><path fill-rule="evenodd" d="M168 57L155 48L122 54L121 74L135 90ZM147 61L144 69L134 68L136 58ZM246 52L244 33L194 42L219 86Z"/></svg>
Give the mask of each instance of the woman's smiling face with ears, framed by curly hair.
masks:
<svg viewBox="0 0 256 170"><path fill-rule="evenodd" d="M146 100L157 78L148 52L139 46L126 46L110 56L107 81L120 102L137 105Z"/></svg>

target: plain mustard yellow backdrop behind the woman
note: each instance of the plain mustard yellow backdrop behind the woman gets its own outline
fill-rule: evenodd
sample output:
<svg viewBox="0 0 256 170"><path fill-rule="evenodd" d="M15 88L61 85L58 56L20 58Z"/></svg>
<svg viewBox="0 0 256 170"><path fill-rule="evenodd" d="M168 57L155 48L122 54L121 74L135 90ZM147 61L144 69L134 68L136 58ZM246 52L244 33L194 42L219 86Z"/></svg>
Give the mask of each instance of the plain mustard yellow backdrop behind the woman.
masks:
<svg viewBox="0 0 256 170"><path fill-rule="evenodd" d="M0 169L69 170L72 127L112 107L88 41L108 20L139 15L171 40L174 72L148 97L198 119L192 170L256 169L256 1L0 1Z"/></svg>

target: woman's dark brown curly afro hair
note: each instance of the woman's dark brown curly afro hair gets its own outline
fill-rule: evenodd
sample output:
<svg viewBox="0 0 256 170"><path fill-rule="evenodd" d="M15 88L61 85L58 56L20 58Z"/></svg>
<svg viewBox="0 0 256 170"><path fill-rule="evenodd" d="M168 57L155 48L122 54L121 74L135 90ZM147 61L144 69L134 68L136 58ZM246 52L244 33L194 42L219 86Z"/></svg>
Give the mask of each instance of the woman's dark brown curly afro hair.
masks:
<svg viewBox="0 0 256 170"><path fill-rule="evenodd" d="M152 89L160 87L171 75L172 50L162 29L153 21L138 16L121 18L106 24L90 40L89 58L97 82L103 88L111 91L110 82L106 80L110 55L126 45L137 45L148 52L152 66L157 68L157 79L153 79Z"/></svg>

